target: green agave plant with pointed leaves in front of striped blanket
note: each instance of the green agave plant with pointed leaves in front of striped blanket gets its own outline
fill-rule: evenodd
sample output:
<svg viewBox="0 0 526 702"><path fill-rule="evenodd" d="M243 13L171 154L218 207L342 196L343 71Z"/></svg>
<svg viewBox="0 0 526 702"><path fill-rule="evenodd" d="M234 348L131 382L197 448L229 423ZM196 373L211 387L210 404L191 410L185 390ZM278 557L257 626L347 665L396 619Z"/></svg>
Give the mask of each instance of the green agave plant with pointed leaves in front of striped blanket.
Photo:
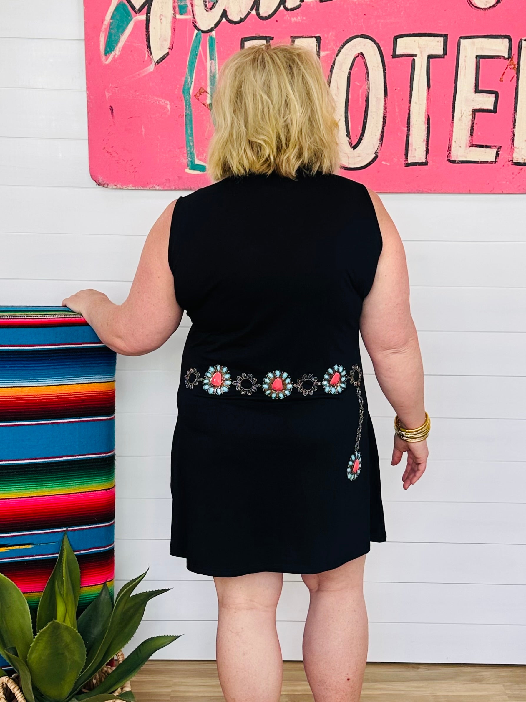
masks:
<svg viewBox="0 0 526 702"><path fill-rule="evenodd" d="M82 688L133 637L147 602L168 590L133 590L146 573L126 583L112 603L106 584L76 618L81 578L67 534L36 613L34 635L27 601L13 581L0 574L0 654L20 675L27 702L107 702L148 658L178 636L154 636L137 646L95 689ZM133 702L133 693L116 700Z"/></svg>

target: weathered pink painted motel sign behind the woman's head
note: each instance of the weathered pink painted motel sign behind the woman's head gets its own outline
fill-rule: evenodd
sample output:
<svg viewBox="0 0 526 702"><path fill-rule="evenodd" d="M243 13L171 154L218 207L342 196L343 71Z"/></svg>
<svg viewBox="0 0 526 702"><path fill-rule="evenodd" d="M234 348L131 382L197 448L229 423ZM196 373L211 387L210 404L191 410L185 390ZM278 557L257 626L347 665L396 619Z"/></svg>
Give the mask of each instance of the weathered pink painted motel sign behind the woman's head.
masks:
<svg viewBox="0 0 526 702"><path fill-rule="evenodd" d="M278 41L321 60L342 175L379 192L526 191L524 0L86 0L84 12L100 185L208 185L217 69Z"/></svg>

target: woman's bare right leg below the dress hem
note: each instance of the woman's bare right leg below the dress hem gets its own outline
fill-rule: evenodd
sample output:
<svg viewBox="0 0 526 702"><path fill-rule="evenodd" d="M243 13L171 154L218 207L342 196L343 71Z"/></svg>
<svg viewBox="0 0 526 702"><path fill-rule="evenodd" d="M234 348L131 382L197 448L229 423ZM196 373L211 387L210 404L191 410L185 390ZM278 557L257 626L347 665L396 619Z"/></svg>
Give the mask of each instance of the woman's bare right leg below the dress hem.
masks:
<svg viewBox="0 0 526 702"><path fill-rule="evenodd" d="M311 592L303 664L316 702L358 702L367 660L363 599L365 556L316 575L302 575Z"/></svg>

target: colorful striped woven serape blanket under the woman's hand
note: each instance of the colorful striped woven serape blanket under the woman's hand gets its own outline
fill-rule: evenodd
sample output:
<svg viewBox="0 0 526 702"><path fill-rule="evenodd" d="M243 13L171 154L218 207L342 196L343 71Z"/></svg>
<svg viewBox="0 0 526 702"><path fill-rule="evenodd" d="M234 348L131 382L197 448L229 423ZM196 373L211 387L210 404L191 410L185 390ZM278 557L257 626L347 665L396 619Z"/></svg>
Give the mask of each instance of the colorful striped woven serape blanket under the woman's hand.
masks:
<svg viewBox="0 0 526 702"><path fill-rule="evenodd" d="M32 609L66 529L79 607L113 588L115 361L65 307L0 307L0 572Z"/></svg>

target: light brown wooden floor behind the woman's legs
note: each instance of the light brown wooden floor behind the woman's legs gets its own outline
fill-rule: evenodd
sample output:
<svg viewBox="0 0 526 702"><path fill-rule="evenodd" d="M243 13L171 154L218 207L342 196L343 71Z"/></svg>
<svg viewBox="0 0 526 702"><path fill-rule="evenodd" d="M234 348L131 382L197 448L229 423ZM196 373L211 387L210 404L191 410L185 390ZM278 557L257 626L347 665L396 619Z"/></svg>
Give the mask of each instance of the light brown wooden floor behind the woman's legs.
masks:
<svg viewBox="0 0 526 702"><path fill-rule="evenodd" d="M149 661L137 702L224 702L215 661ZM363 702L526 702L526 666L368 663ZM284 664L281 702L313 702L303 664Z"/></svg>

